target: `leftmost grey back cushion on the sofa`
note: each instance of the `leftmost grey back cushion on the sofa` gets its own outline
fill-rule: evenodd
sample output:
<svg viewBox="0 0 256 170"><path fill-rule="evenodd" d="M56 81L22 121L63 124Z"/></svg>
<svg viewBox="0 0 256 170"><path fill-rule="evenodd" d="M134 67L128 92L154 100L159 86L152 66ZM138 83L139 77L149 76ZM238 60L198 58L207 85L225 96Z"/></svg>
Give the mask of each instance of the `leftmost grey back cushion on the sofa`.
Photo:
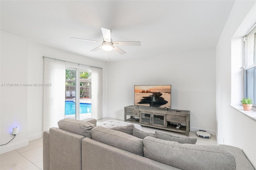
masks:
<svg viewBox="0 0 256 170"><path fill-rule="evenodd" d="M66 118L58 121L58 127L60 129L91 138L91 130L95 125L90 122Z"/></svg>

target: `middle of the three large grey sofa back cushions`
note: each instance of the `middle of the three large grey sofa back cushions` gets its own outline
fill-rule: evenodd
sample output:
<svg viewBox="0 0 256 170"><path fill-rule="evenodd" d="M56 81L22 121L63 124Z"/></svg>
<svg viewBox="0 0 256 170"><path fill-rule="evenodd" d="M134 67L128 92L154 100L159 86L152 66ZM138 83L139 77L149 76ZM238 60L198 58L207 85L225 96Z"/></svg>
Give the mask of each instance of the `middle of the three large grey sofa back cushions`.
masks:
<svg viewBox="0 0 256 170"><path fill-rule="evenodd" d="M143 156L143 140L130 134L99 126L92 129L92 139Z"/></svg>

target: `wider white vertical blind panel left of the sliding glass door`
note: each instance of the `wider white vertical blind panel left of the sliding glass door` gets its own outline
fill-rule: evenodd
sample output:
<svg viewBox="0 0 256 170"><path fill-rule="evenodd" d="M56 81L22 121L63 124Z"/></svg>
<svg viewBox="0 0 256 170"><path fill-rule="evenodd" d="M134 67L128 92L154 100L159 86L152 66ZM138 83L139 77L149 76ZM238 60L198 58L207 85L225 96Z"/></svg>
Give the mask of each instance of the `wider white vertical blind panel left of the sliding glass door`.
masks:
<svg viewBox="0 0 256 170"><path fill-rule="evenodd" d="M43 131L58 127L65 116L66 62L44 58Z"/></svg>

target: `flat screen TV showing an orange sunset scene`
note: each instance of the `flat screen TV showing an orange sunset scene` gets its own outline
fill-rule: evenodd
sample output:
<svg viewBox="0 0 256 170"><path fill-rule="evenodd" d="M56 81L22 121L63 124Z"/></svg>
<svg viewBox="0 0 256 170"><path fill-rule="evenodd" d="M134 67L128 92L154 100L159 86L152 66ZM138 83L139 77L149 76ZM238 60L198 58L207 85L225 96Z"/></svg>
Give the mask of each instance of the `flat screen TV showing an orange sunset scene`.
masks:
<svg viewBox="0 0 256 170"><path fill-rule="evenodd" d="M134 85L134 105L171 109L172 85Z"/></svg>

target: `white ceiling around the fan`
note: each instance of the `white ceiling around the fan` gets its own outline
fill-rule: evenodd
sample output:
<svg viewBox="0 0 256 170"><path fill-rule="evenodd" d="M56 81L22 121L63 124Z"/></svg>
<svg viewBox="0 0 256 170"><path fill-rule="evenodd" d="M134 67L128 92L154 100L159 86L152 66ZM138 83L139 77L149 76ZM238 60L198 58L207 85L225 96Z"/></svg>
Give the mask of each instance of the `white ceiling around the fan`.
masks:
<svg viewBox="0 0 256 170"><path fill-rule="evenodd" d="M105 61L159 56L216 47L234 1L10 1L1 0L1 30L40 44ZM126 51L90 50L102 41L100 27ZM54 56L50 56L54 57Z"/></svg>

